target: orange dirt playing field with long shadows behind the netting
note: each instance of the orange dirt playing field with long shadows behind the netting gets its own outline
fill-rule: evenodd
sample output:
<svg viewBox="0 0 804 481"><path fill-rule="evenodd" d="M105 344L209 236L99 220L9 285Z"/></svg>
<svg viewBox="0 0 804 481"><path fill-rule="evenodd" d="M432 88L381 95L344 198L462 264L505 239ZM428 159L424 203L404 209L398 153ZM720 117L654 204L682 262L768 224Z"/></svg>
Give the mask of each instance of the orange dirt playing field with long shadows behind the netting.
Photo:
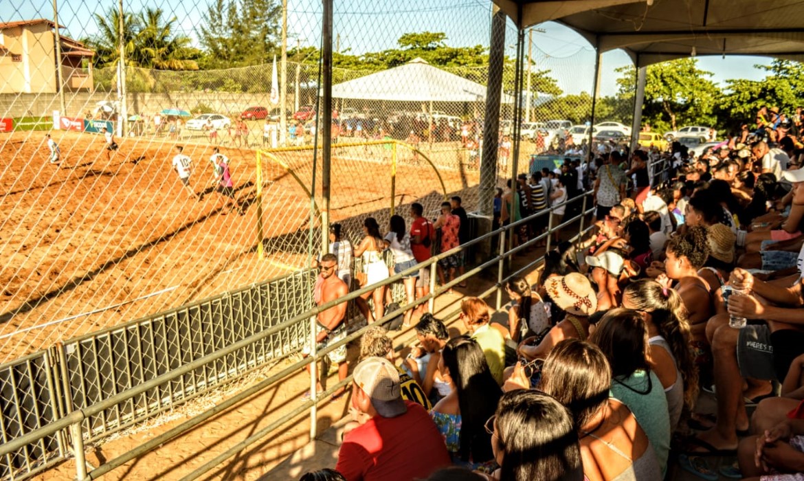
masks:
<svg viewBox="0 0 804 481"><path fill-rule="evenodd" d="M268 256L257 261L254 150L221 148L232 158L245 209L239 216L223 215L224 203L211 187L212 147L203 138L178 142L195 163L191 187L204 193L197 201L170 165L175 141L128 138L107 158L101 136L55 131L62 162L51 165L44 133L2 135L0 363L306 264L310 199L292 175L268 161ZM388 208L388 150L335 149L333 155L332 220L359 225ZM396 203L425 198L433 208L441 200L433 169L406 166L410 154L400 156ZM311 150L281 158L301 183L310 182ZM441 175L448 192L471 194L478 183L477 172L442 169ZM400 211L407 215L407 208Z"/></svg>

